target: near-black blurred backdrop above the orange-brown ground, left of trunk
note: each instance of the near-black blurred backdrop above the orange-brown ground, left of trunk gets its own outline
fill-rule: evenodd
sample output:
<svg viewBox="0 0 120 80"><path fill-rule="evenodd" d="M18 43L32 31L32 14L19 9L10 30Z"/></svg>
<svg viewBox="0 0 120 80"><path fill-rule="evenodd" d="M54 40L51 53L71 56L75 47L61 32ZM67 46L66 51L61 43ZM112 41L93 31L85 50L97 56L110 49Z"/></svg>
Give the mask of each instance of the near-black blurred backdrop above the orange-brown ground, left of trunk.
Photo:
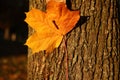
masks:
<svg viewBox="0 0 120 80"><path fill-rule="evenodd" d="M24 46L28 27L24 22L28 11L28 0L0 0L0 56L27 53ZM5 29L9 28L9 38L5 39ZM16 40L10 36L16 35Z"/></svg>

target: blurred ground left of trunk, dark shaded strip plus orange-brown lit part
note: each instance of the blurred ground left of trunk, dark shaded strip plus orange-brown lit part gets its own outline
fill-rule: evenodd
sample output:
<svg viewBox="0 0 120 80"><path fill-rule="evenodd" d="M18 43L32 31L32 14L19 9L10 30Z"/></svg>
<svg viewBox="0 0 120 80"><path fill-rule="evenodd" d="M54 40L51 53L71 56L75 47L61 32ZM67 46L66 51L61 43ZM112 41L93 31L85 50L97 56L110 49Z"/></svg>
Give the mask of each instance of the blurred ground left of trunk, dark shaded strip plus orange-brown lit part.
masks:
<svg viewBox="0 0 120 80"><path fill-rule="evenodd" d="M26 80L26 47L16 42L0 41L0 80Z"/></svg>

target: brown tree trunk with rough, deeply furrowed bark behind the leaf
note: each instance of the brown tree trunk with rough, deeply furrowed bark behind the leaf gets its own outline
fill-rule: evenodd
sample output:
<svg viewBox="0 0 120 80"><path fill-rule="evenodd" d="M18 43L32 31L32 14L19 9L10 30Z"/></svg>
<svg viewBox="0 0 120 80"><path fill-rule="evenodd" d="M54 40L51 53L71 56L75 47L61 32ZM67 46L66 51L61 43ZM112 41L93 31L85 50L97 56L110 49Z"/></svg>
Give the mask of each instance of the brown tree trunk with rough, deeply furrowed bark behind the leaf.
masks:
<svg viewBox="0 0 120 80"><path fill-rule="evenodd" d="M80 22L67 35L69 80L118 80L120 78L117 0L70 0L68 7L80 9ZM45 10L45 0L30 0L32 7ZM84 17L89 19L84 21ZM80 24L80 23L78 23ZM29 29L29 35L32 34ZM28 80L65 80L63 45L51 54L28 54Z"/></svg>

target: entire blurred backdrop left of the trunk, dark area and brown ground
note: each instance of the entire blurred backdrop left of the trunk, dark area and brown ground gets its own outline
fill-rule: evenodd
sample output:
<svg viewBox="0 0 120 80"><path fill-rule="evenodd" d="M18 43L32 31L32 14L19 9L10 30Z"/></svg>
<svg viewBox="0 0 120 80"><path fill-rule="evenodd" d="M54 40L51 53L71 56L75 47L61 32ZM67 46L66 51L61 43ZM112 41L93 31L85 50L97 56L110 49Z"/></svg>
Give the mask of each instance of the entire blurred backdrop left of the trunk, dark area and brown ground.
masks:
<svg viewBox="0 0 120 80"><path fill-rule="evenodd" d="M0 80L26 80L29 0L0 0Z"/></svg>

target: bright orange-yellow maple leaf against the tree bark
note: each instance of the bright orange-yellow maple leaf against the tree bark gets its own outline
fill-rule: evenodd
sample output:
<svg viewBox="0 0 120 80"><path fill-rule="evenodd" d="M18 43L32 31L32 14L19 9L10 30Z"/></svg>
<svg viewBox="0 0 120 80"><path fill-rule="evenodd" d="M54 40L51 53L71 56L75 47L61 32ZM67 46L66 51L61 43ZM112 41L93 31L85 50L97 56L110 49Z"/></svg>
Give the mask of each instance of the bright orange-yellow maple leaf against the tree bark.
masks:
<svg viewBox="0 0 120 80"><path fill-rule="evenodd" d="M35 32L26 45L33 51L51 52L59 47L63 36L71 31L79 20L79 11L70 11L64 2L49 1L46 12L33 8L26 13L25 21Z"/></svg>

